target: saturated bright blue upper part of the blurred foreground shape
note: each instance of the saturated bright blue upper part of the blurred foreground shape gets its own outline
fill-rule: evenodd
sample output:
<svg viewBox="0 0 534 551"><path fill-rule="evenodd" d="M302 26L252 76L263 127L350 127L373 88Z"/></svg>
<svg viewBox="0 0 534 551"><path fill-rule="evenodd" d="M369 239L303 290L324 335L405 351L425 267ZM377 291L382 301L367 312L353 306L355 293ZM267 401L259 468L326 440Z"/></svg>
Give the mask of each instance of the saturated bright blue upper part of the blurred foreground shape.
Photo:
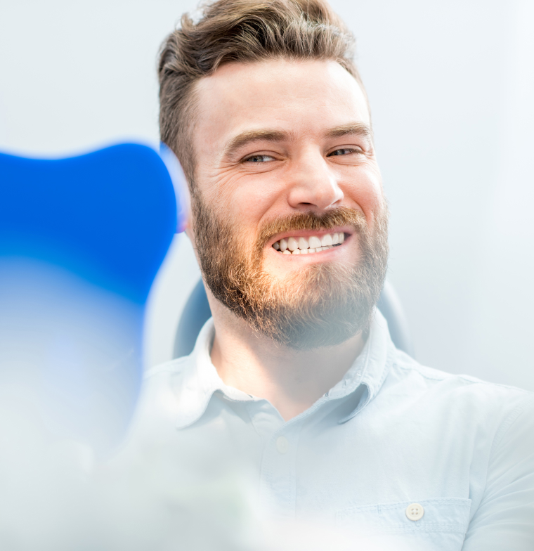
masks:
<svg viewBox="0 0 534 551"><path fill-rule="evenodd" d="M176 223L167 167L144 145L62 160L0 153L0 257L42 259L142 304Z"/></svg>

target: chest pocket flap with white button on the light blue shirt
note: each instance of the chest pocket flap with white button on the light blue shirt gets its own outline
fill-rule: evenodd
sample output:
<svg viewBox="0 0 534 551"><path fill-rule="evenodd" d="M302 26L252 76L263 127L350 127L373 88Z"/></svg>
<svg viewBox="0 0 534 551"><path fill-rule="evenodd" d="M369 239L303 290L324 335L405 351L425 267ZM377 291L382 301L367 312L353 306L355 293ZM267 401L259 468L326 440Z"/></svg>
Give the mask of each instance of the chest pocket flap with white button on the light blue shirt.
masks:
<svg viewBox="0 0 534 551"><path fill-rule="evenodd" d="M457 534L461 547L470 509L471 500L462 498L363 505L337 512L336 524L360 533Z"/></svg>

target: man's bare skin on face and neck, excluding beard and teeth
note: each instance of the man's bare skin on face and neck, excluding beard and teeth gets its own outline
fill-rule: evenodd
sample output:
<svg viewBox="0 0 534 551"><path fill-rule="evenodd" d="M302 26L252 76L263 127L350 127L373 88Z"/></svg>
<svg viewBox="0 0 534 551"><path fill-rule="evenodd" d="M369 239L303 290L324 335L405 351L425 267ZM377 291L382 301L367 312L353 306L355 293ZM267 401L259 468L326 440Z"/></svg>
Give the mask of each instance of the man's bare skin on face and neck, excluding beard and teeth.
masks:
<svg viewBox="0 0 534 551"><path fill-rule="evenodd" d="M294 212L358 209L372 229L384 202L360 86L332 60L230 63L197 84L195 181L204 200L235 224L252 254L261 225ZM255 134L254 134L255 133ZM254 139L251 138L254 134ZM261 135L257 135L261 134ZM239 143L237 143L239 142ZM283 280L310 263L358 261L358 236L316 254L282 255L271 246L263 268ZM195 247L192 228L187 233ZM208 290L215 339L211 361L231 387L270 401L284 420L309 408L344 376L362 335L338 346L292 351L254 332Z"/></svg>

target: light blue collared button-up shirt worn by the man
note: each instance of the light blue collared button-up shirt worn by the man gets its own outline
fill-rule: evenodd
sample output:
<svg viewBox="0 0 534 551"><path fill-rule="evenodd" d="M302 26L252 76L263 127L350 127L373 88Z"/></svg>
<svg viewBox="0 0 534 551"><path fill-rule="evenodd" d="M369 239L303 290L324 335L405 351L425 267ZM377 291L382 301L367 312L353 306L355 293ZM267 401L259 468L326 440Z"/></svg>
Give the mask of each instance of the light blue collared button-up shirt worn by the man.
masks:
<svg viewBox="0 0 534 551"><path fill-rule="evenodd" d="M419 365L377 311L343 379L285 422L223 383L213 338L209 320L146 375L132 441L175 480L230 480L260 515L398 544L377 548L534 549L532 393Z"/></svg>

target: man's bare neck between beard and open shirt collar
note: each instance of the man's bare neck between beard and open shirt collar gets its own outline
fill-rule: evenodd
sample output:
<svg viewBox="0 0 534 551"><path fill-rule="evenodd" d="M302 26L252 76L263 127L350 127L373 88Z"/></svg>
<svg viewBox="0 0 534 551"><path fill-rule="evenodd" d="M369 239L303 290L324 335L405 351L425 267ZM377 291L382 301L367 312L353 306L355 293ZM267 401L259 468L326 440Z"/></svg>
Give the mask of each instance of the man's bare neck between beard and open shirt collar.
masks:
<svg viewBox="0 0 534 551"><path fill-rule="evenodd" d="M215 339L211 361L225 384L273 404L284 420L308 409L349 370L361 333L337 346L294 351L263 337L210 297Z"/></svg>

